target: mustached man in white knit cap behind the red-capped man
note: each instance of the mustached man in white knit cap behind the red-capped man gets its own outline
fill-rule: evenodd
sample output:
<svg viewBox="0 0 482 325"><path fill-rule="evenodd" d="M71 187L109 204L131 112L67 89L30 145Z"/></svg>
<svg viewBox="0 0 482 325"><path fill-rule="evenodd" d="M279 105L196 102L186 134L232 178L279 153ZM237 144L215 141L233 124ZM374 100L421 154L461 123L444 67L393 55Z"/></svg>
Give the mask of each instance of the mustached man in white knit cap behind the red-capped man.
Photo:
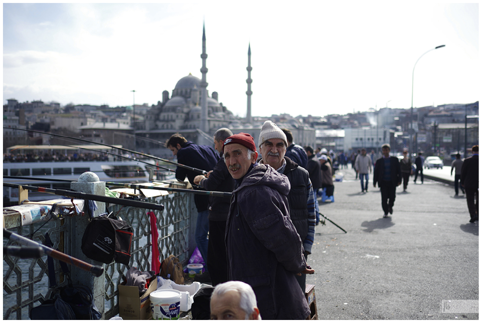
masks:
<svg viewBox="0 0 482 325"><path fill-rule="evenodd" d="M270 120L265 121L261 127L258 147L262 156L259 163L269 164L279 173L288 176L291 188L288 193L289 215L303 243L305 259L308 260L316 224L315 197L310 175L305 168L285 156L286 134ZM296 279L304 292L306 274L301 274Z"/></svg>

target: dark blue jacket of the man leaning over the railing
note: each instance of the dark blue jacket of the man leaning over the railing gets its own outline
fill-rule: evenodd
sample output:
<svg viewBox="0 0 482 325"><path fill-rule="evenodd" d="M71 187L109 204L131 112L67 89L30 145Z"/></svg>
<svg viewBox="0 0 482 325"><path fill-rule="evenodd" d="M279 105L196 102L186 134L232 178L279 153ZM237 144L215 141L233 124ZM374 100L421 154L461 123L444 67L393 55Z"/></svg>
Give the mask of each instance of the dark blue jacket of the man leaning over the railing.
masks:
<svg viewBox="0 0 482 325"><path fill-rule="evenodd" d="M219 154L209 145L197 145L188 141L177 152L177 162L186 166L202 169L205 171L212 170L219 160ZM186 176L191 184L194 184L194 177L199 175L197 171L192 171L184 167L176 168L176 178L184 181ZM208 195L194 195L194 203L198 212L206 211L209 204Z"/></svg>

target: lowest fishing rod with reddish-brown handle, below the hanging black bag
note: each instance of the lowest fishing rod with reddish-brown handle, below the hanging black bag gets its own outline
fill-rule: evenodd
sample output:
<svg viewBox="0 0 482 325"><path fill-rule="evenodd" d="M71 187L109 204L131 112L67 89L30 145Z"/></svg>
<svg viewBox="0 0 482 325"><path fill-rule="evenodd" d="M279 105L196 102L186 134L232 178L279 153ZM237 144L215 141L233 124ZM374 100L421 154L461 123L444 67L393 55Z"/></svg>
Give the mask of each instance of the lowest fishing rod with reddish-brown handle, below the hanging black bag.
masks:
<svg viewBox="0 0 482 325"><path fill-rule="evenodd" d="M44 253L47 255L51 256L52 258L59 259L63 262L66 262L68 264L77 266L83 270L89 271L93 273L95 276L99 277L104 273L104 268L97 266L97 265L92 265L89 264L83 260L80 260L78 258L72 257L70 255L67 255L61 251L58 251L56 249L53 249L51 247L48 247L46 245L43 245L41 243L38 243L34 240L30 240L24 236L21 236L19 234L16 234L10 230L7 230L4 228L4 237L9 238L10 240L17 241L20 244L24 244L26 246L30 247L41 247Z"/></svg>

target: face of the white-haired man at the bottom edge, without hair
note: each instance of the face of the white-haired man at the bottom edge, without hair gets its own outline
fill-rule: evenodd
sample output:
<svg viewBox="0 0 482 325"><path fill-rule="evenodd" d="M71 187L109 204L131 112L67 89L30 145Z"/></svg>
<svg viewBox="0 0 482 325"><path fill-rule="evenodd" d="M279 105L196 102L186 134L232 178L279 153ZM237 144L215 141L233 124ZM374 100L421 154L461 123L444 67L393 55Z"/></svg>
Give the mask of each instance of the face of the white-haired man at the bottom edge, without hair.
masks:
<svg viewBox="0 0 482 325"><path fill-rule="evenodd" d="M246 312L241 309L239 303L241 296L238 291L227 291L222 296L217 294L211 298L211 319L212 320L245 320Z"/></svg>

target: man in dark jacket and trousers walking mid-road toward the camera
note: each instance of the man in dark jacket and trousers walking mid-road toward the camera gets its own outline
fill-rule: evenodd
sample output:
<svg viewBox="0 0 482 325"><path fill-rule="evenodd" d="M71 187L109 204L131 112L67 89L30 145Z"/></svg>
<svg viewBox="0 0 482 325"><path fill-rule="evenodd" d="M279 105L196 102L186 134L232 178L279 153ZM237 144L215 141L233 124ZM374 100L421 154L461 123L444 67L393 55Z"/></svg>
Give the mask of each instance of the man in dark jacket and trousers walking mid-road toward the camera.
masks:
<svg viewBox="0 0 482 325"><path fill-rule="evenodd" d="M386 218L388 213L393 214L395 190L401 184L401 169L398 158L390 156L390 144L383 144L381 152L383 156L376 160L373 170L373 187L376 187L376 183L380 187L383 217Z"/></svg>

